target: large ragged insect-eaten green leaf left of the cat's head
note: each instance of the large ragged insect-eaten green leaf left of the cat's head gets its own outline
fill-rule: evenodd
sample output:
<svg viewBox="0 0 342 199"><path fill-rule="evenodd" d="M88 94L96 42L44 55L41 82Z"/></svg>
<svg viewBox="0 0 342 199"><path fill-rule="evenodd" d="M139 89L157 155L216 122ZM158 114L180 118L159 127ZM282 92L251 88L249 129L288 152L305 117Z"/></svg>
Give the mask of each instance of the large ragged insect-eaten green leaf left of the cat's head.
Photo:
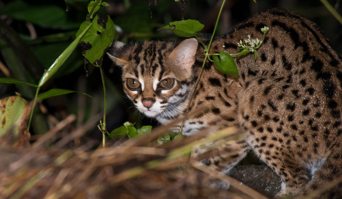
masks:
<svg viewBox="0 0 342 199"><path fill-rule="evenodd" d="M114 23L109 16L99 19L98 15L94 17L92 23L91 28L81 40L83 48L86 49L86 53L83 54L83 56L88 59L92 65L100 67L100 60L102 59L105 50L111 46L114 40ZM88 27L89 25L90 22L83 22L77 31L76 36L83 31L84 27Z"/></svg>

